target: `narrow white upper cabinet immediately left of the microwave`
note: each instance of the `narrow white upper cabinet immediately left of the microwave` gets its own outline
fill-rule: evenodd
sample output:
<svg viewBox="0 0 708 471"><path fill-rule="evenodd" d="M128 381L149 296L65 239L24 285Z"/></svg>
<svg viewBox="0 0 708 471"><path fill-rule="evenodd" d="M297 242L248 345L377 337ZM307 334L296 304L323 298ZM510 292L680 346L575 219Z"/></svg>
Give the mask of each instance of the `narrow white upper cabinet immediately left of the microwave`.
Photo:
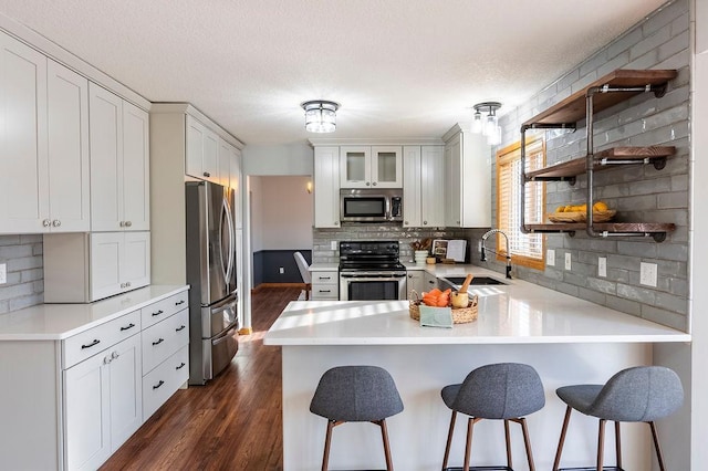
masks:
<svg viewBox="0 0 708 471"><path fill-rule="evenodd" d="M340 227L340 148L314 148L314 227Z"/></svg>

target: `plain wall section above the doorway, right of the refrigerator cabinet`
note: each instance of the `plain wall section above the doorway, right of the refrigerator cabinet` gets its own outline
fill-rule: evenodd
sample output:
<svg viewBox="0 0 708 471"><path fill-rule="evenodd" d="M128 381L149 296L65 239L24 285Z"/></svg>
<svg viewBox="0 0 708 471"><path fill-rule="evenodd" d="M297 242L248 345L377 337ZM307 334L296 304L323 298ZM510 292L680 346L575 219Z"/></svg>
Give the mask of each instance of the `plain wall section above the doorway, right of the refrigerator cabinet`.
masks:
<svg viewBox="0 0 708 471"><path fill-rule="evenodd" d="M246 146L244 175L314 175L314 150L306 143Z"/></svg>

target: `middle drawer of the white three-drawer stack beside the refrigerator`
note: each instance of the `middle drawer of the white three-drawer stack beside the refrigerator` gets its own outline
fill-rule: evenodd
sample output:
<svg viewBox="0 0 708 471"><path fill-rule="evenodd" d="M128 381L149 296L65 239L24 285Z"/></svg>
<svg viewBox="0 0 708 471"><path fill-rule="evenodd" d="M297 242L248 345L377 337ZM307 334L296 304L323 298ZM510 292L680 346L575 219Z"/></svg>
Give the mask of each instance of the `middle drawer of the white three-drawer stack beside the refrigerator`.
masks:
<svg viewBox="0 0 708 471"><path fill-rule="evenodd" d="M143 374L189 344L189 310L181 310L143 331Z"/></svg>

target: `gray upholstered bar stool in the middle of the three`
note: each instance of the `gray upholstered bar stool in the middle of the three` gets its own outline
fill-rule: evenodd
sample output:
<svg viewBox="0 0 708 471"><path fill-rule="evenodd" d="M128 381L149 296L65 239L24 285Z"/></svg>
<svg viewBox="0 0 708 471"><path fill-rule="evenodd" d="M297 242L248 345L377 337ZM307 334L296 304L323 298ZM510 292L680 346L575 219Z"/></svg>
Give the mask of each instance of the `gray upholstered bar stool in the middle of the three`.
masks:
<svg viewBox="0 0 708 471"><path fill-rule="evenodd" d="M447 446L445 447L445 459L442 460L444 471L460 469L447 467L457 412L470 416L467 422L467 444L465 447L465 464L462 468L465 471L470 469L513 471L509 421L521 425L529 469L531 471L535 470L524 416L542 409L545 405L545 396L543 394L541 378L533 367L518 363L499 363L481 366L467 375L461 385L450 385L442 388L440 395L442 396L445 405L452 409ZM504 421L504 438L507 441L506 467L469 467L472 447L472 428L475 423L482 419Z"/></svg>

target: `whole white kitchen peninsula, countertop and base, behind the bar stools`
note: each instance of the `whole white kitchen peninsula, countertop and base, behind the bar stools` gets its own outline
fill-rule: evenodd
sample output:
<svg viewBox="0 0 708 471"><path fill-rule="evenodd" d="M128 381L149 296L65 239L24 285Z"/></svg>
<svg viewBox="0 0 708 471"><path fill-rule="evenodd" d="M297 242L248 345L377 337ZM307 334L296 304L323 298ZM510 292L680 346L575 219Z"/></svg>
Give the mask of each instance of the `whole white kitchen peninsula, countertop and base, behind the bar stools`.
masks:
<svg viewBox="0 0 708 471"><path fill-rule="evenodd" d="M471 265L425 268L436 276L475 275L500 279ZM520 362L539 371L545 407L528 418L538 469L550 469L563 420L564 406L555 388L576 383L604 383L624 367L652 364L652 344L690 342L690 335L620 313L520 280L506 285L475 286L479 295L476 322L450 328L420 327L408 314L407 301L292 302L264 337L282 347L283 462L285 470L308 470L321 463L325 421L309 411L322 374L339 365L369 364L386 368L400 391L404 411L388 422L393 459L406 470L438 469L445 451L450 412L440 389L461 383L473 368L499 362ZM462 419L458 419L461 421ZM504 460L500 423L479 426L473 464ZM592 463L595 419L577 416L571 422L564 465ZM451 464L464 454L464 432L455 436ZM625 426L625 467L649 469L645 430ZM523 462L520 431L512 428L513 458ZM381 468L381 437L363 423L339 427L333 435L333 468ZM613 447L606 447L607 459Z"/></svg>

